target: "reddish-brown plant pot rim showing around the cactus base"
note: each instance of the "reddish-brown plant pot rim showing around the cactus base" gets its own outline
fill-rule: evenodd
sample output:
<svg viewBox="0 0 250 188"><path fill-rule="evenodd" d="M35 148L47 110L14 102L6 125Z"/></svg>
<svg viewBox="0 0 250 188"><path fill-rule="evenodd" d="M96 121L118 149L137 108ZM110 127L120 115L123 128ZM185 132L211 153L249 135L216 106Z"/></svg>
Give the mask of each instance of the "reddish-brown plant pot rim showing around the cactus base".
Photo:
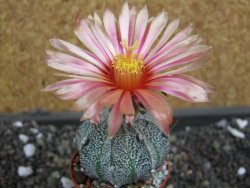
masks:
<svg viewBox="0 0 250 188"><path fill-rule="evenodd" d="M166 175L166 177L164 178L164 180L160 184L159 188L165 187L165 185L169 179L169 176L170 176L170 162L166 161L165 165L167 165L168 174ZM80 170L80 158L79 158L78 151L75 151L71 156L70 165L69 165L69 175L70 175L70 178L71 178L75 188L80 188L80 184L84 184L86 188L94 188L93 180L90 179L89 177L87 177L84 174L84 172ZM143 185L143 183L138 182L136 185L138 187L141 187ZM152 185L152 184L148 184L148 185ZM100 186L100 187L102 187L102 186ZM105 188L112 188L112 187L113 186L111 184L105 185Z"/></svg>

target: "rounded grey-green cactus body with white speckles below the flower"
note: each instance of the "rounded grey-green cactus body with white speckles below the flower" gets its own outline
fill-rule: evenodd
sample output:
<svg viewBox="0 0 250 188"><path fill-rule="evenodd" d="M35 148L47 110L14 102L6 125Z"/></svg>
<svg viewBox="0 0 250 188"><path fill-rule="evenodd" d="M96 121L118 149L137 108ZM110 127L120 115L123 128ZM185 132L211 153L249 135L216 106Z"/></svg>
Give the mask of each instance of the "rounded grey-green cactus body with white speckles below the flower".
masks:
<svg viewBox="0 0 250 188"><path fill-rule="evenodd" d="M107 114L97 126L84 121L74 142L84 173L114 187L146 181L151 170L164 164L170 144L148 114L137 115L133 126L122 123L118 133L108 137Z"/></svg>

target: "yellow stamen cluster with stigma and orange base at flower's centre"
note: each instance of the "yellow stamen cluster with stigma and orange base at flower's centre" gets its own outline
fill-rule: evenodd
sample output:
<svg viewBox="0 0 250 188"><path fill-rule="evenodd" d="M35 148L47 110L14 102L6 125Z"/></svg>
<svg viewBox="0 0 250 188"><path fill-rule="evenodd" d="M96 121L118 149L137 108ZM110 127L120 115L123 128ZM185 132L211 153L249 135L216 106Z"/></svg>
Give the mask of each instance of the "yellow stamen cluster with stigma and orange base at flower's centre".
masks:
<svg viewBox="0 0 250 188"><path fill-rule="evenodd" d="M118 88L131 91L141 86L145 66L140 55L132 53L138 42L128 47L124 40L122 45L126 53L117 55L112 62L114 81Z"/></svg>

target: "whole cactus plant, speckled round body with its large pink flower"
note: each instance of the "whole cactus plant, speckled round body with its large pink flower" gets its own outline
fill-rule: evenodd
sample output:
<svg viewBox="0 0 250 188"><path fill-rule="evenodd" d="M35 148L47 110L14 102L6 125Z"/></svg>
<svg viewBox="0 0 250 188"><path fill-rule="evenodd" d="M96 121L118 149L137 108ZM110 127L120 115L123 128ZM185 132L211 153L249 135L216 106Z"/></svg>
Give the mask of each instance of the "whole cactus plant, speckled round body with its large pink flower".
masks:
<svg viewBox="0 0 250 188"><path fill-rule="evenodd" d="M137 13L125 2L118 21L109 9L103 18L96 13L76 18L75 34L88 50L50 40L63 52L48 50L46 63L69 79L44 91L77 99L74 109L84 112L84 122L75 142L92 178L118 187L149 178L169 151L172 108L166 96L208 101L210 86L186 73L200 67L198 60L211 47L191 35L192 25L173 36L179 20L167 20L165 11L149 18L146 6ZM137 114L139 108L149 114Z"/></svg>

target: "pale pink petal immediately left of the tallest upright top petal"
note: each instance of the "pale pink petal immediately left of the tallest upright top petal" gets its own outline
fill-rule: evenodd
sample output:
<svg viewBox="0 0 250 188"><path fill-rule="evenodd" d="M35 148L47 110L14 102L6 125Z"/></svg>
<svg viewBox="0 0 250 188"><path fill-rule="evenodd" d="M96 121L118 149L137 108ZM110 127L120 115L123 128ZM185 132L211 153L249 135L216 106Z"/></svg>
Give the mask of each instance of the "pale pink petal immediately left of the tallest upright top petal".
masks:
<svg viewBox="0 0 250 188"><path fill-rule="evenodd" d="M120 37L120 33L117 31L117 27L116 27L116 19L114 14L106 9L103 15L103 24L104 27L107 31L107 34L109 36L109 38L111 39L116 53L121 53L122 50L122 46L121 46L121 37Z"/></svg>

